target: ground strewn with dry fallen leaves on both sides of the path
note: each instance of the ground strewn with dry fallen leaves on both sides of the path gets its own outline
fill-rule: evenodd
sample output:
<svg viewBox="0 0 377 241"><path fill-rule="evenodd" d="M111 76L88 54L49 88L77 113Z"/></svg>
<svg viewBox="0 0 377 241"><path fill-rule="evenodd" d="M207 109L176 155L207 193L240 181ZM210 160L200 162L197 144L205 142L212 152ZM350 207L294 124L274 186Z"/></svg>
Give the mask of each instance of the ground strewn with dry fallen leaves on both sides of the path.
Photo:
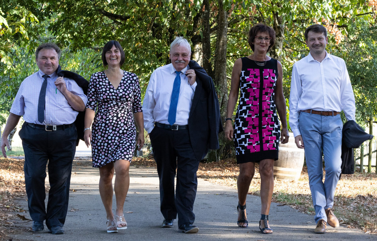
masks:
<svg viewBox="0 0 377 241"><path fill-rule="evenodd" d="M80 165L80 162L76 162L75 165ZM156 167L155 161L150 156L134 158L131 165ZM257 168L258 165L250 184L249 194L259 196L261 180ZM198 178L237 189L238 171L236 161L228 158L219 162L201 162L197 175ZM20 196L23 198L26 196L23 160L0 158L0 240L9 240L5 239L6 233L11 232L7 229L9 226L7 222L15 219L15 212L23 211L15 205L15 198ZM289 205L303 213L314 214L305 167L298 181L275 179L273 201L280 203L279 205ZM337 185L333 210L341 225L368 233L377 233L377 175L375 173L342 175ZM22 220L21 217L18 218Z"/></svg>

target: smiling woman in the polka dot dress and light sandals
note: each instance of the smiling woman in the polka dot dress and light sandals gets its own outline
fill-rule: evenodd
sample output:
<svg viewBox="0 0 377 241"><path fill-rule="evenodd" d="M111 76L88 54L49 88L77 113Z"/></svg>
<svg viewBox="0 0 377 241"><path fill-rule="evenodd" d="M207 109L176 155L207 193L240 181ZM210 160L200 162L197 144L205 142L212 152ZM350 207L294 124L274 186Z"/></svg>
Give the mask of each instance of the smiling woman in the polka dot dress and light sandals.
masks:
<svg viewBox="0 0 377 241"><path fill-rule="evenodd" d="M136 74L121 70L124 59L120 43L106 43L102 62L108 68L90 77L85 112L84 140L87 147L91 142L93 167L100 170L99 189L106 210L108 233L127 229L123 205L130 184L130 162L135 145L138 145L139 150L144 145L139 80ZM137 139L134 118L140 131ZM114 171L115 218L112 210Z"/></svg>

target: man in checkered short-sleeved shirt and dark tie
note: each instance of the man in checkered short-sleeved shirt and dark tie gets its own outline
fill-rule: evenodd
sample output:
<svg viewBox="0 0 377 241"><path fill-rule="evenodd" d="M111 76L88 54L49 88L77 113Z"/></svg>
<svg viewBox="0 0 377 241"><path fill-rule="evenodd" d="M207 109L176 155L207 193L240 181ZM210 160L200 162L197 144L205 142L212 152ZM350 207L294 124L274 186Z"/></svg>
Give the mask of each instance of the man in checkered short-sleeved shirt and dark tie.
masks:
<svg viewBox="0 0 377 241"><path fill-rule="evenodd" d="M23 116L20 130L25 152L25 187L33 225L30 231L44 229L43 221L53 234L64 233L68 209L72 161L76 151L77 131L74 124L78 111L84 111L87 97L72 79L57 76L60 48L43 43L35 51L39 71L20 85L12 104L1 139L6 157L8 135ZM44 205L46 165L49 173L47 211Z"/></svg>

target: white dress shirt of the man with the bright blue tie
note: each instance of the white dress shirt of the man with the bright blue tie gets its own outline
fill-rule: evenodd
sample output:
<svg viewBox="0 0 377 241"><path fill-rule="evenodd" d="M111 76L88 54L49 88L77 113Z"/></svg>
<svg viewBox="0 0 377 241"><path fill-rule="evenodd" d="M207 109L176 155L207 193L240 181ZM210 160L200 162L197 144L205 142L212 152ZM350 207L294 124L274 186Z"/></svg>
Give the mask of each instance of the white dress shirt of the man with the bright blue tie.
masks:
<svg viewBox="0 0 377 241"><path fill-rule="evenodd" d="M197 83L190 85L186 66L181 70L181 86L179 89L178 106L175 125L187 125L189 120L192 99ZM172 97L173 83L177 76L175 68L170 63L153 71L143 101L144 128L150 133L155 127L154 122L169 125L168 115L170 99Z"/></svg>

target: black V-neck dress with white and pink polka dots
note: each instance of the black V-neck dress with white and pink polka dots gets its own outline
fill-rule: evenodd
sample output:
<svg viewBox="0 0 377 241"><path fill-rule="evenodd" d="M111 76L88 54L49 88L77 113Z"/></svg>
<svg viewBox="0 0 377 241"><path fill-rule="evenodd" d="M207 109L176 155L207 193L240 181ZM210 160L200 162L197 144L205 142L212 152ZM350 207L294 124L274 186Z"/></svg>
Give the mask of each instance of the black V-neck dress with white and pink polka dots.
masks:
<svg viewBox="0 0 377 241"><path fill-rule="evenodd" d="M116 89L104 71L92 74L86 107L96 112L92 124L93 167L116 160L131 162L136 146L133 113L142 111L136 74L124 71Z"/></svg>

